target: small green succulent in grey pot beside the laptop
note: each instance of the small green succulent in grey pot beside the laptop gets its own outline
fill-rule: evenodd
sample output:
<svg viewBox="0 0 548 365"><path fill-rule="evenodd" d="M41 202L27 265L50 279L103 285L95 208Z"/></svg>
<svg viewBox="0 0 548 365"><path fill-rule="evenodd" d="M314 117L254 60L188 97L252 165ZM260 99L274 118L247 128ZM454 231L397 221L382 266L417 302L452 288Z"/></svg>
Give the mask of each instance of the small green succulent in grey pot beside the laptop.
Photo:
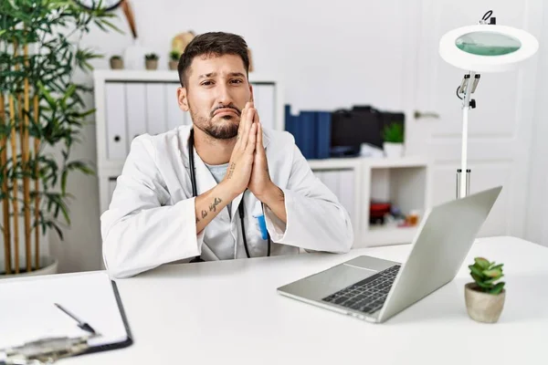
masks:
<svg viewBox="0 0 548 365"><path fill-rule="evenodd" d="M469 317L479 322L497 322L506 296L504 282L496 283L503 276L503 264L496 265L483 257L476 257L474 261L474 265L469 266L474 282L465 286Z"/></svg>

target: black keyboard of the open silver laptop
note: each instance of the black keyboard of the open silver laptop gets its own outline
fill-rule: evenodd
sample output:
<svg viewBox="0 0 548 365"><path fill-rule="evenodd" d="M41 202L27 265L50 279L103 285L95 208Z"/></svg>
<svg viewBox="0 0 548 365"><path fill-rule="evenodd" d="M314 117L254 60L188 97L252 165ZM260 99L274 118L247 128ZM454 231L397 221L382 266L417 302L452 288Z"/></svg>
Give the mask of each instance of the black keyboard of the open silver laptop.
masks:
<svg viewBox="0 0 548 365"><path fill-rule="evenodd" d="M373 314L383 308L399 268L400 265L391 266L321 300Z"/></svg>

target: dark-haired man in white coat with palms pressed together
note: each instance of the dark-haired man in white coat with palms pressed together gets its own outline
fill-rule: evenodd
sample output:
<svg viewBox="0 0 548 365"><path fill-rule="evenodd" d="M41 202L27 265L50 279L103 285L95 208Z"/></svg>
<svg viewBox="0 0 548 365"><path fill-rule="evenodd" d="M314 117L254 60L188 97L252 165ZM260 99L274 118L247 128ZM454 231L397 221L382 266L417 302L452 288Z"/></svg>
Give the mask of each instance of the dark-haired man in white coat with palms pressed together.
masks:
<svg viewBox="0 0 548 365"><path fill-rule="evenodd" d="M193 126L132 141L101 216L111 276L181 260L350 249L348 213L293 137L261 127L248 68L240 36L207 33L185 48L177 99Z"/></svg>

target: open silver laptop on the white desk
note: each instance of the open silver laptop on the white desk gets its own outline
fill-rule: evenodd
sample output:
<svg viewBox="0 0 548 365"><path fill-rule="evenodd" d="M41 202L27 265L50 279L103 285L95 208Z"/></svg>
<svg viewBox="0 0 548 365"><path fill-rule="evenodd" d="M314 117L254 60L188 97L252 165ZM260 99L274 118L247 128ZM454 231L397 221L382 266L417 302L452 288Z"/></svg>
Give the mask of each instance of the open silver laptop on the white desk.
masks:
<svg viewBox="0 0 548 365"><path fill-rule="evenodd" d="M278 288L278 293L382 323L453 280L502 187L433 207L404 264L360 255Z"/></svg>

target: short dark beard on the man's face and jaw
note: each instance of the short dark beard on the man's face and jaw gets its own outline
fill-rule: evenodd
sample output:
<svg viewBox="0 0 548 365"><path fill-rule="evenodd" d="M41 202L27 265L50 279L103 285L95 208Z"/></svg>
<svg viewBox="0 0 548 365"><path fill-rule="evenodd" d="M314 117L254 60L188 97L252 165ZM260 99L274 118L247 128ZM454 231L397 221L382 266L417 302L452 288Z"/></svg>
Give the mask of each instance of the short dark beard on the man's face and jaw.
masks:
<svg viewBox="0 0 548 365"><path fill-rule="evenodd" d="M235 110L238 117L234 115L224 115L222 117L216 117L214 115L215 111L221 108L230 108ZM192 121L194 122L196 128L204 131L205 134L207 134L208 136L216 140L231 140L233 138L236 138L237 130L239 129L239 116L241 115L241 112L233 104L230 104L226 107L217 107L215 110L211 111L208 117L199 115L196 111L190 108L190 105L189 110Z"/></svg>

